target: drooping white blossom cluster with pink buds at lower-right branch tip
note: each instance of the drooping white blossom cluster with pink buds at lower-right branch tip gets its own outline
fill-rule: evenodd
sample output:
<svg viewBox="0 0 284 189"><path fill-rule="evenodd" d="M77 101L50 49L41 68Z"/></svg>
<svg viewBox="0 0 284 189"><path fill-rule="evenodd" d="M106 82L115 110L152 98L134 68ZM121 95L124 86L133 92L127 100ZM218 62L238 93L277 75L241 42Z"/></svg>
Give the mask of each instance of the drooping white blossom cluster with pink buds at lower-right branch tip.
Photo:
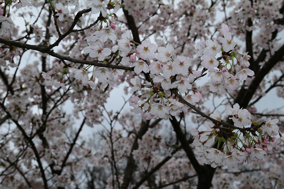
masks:
<svg viewBox="0 0 284 189"><path fill-rule="evenodd" d="M235 104L233 108L226 106L225 112L236 128L220 127L207 121L204 124L205 130L192 128L190 131L195 137L195 154L205 164L231 168L244 161L261 160L284 140L278 132L278 119L268 118L263 122L252 122L249 111L240 109L239 104ZM222 121L219 111L210 117Z"/></svg>

